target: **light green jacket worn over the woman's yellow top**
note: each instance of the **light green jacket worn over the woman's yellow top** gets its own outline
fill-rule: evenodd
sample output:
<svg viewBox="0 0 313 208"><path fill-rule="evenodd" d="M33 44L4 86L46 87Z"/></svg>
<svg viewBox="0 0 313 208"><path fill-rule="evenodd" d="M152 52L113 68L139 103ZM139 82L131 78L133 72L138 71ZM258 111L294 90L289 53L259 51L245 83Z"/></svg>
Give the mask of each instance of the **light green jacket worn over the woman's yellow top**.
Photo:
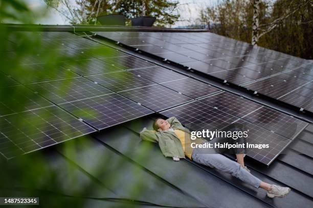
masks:
<svg viewBox="0 0 313 208"><path fill-rule="evenodd" d="M185 128L181 122L175 117L167 119L173 129L180 129L188 134L190 131ZM185 158L184 149L181 141L177 138L174 132L148 130L146 128L140 132L142 140L159 143L160 149L165 157Z"/></svg>

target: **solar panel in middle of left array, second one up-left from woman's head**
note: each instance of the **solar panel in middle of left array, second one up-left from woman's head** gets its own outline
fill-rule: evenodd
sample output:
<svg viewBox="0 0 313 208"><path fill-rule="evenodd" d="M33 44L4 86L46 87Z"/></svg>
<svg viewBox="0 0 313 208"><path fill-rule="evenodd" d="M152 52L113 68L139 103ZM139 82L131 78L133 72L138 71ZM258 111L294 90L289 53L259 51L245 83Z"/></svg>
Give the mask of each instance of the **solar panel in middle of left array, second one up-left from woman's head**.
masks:
<svg viewBox="0 0 313 208"><path fill-rule="evenodd" d="M100 85L115 92L155 85L155 83L138 75L129 73L128 71L96 74L86 77L87 79L97 82Z"/></svg>

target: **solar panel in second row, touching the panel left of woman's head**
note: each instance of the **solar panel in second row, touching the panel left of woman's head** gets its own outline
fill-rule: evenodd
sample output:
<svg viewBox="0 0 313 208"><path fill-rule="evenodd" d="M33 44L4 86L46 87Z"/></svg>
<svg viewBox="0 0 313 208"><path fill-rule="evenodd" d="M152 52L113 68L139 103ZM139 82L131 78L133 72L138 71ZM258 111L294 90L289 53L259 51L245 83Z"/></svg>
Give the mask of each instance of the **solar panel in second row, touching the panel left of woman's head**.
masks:
<svg viewBox="0 0 313 208"><path fill-rule="evenodd" d="M33 83L27 86L56 104L112 93L84 77Z"/></svg>

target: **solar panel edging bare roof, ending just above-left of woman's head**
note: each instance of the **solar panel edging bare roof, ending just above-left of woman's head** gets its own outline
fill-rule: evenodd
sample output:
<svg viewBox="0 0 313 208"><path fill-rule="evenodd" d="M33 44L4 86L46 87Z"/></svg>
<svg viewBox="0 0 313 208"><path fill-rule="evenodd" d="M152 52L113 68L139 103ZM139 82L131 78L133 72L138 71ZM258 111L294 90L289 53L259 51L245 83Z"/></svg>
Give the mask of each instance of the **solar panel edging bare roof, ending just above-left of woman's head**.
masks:
<svg viewBox="0 0 313 208"><path fill-rule="evenodd" d="M98 130L153 113L116 93L63 103L60 107Z"/></svg>

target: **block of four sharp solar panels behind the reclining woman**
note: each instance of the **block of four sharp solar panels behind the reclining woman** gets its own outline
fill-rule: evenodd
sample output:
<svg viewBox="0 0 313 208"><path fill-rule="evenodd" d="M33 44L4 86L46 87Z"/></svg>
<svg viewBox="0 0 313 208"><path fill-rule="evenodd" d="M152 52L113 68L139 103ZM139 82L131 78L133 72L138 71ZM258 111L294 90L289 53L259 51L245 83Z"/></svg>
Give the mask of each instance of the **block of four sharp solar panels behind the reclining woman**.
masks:
<svg viewBox="0 0 313 208"><path fill-rule="evenodd" d="M209 129L209 131L225 129L227 131L227 126L231 123L242 124L249 131L246 142L255 145L269 144L269 148L247 148L249 157L265 165L270 165L279 153L292 142L292 139L307 126L307 123L294 117L289 116L289 120L285 120L288 116L278 111L261 105L260 108L256 108L258 104L236 95L226 95L228 96L226 102L227 98L234 98L234 105L228 102L225 103L220 96L222 94L225 94L225 92L162 111L161 114L166 117L176 117L192 131L202 131L203 129ZM211 97L213 101L210 99ZM210 105L204 103L206 100L212 101ZM223 106L220 107L220 104ZM238 105L242 107L243 104L247 105L245 106L247 110L239 109L239 112L234 111ZM231 107L231 109L229 110L228 107ZM262 111L257 112L256 109ZM252 115L252 113L255 113L255 115ZM267 117L264 113L271 113L272 117ZM240 119L237 117L240 115L245 116ZM275 122L274 125L271 122ZM274 132L274 130L277 132Z"/></svg>

